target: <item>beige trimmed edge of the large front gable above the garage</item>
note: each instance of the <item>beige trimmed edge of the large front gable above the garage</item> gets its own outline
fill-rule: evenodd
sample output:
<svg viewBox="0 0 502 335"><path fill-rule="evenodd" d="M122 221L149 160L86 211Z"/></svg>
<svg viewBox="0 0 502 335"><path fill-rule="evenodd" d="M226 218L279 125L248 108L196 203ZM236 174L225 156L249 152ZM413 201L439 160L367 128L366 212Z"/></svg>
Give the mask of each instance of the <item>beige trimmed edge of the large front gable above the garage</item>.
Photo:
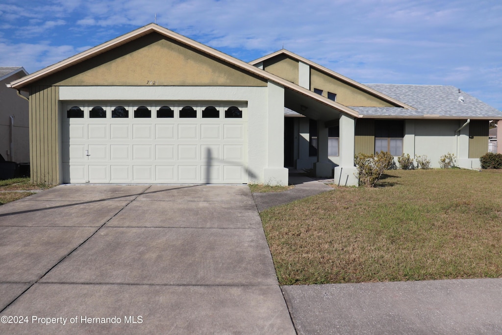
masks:
<svg viewBox="0 0 502 335"><path fill-rule="evenodd" d="M299 85L296 85L286 79L283 79L283 78L276 76L272 73L269 73L267 71L259 69L256 66L253 66L253 65L248 64L244 61L236 59L236 58L229 56L221 51L215 50L215 49L208 47L202 43L191 40L183 35L177 34L173 31L170 31L170 30L168 30L164 27L161 27L157 24L154 24L154 23L151 23L147 26L136 29L128 34L119 36L111 41L100 44L100 45L98 45L94 48L91 48L89 50L86 50L84 52L81 52L75 56L67 58L61 62L54 64L54 65L48 66L44 69L41 69L37 72L34 72L24 78L21 78L19 80L15 80L10 84L9 87L12 87L15 89L22 89L23 87L25 87L31 83L34 83L37 80L40 80L44 77L52 75L56 72L62 71L70 66L76 65L80 62L83 62L84 60L90 59L92 57L96 57L97 55L99 55L101 53L109 51L113 48L116 48L116 47L123 45L123 44L126 44L128 42L131 42L135 39L138 39L142 36L148 35L153 32L156 32L156 33L161 34L167 38L173 39L177 42L180 42L184 45L187 45L195 50L198 50L206 55L209 55L211 57L219 59L227 64L231 64L233 66L236 66L237 68L240 68L250 74L254 74L254 75L262 77L266 80L270 80L272 82L280 84L280 85L284 86L285 89L290 89L290 90L294 91L295 93L299 93L299 94L307 96L313 100L319 101L325 105L328 105L329 107L332 107L332 108L335 108L335 109L341 111L342 113L351 115L353 117L358 117L357 111L355 111L349 107L346 107L338 102L329 100L328 98L320 96L319 94L316 94L306 88L303 88Z"/></svg>

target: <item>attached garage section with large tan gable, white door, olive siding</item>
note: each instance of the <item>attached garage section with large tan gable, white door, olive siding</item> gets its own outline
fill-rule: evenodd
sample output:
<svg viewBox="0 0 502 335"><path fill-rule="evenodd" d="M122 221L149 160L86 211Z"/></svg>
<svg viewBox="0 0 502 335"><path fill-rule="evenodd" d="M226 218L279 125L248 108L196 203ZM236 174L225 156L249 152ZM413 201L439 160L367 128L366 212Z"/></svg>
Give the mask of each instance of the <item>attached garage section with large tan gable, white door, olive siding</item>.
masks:
<svg viewBox="0 0 502 335"><path fill-rule="evenodd" d="M11 85L29 93L33 182L288 183L295 85L158 25Z"/></svg>

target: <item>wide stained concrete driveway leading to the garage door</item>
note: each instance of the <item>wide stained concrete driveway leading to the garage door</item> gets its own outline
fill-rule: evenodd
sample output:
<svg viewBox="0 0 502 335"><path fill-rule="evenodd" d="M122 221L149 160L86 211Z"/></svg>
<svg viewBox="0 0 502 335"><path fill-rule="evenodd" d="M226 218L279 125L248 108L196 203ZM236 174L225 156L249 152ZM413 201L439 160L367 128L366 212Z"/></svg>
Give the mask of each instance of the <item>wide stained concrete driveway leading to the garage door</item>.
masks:
<svg viewBox="0 0 502 335"><path fill-rule="evenodd" d="M247 186L61 185L0 206L0 267L0 333L295 333Z"/></svg>

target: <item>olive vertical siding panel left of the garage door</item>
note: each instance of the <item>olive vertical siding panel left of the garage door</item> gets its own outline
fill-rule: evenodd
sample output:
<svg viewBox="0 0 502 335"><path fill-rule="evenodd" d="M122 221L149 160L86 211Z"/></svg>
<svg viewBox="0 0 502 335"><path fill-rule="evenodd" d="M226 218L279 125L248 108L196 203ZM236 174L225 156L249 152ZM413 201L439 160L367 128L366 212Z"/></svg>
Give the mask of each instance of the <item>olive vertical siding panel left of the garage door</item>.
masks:
<svg viewBox="0 0 502 335"><path fill-rule="evenodd" d="M59 184L59 87L30 87L30 159L34 183Z"/></svg>

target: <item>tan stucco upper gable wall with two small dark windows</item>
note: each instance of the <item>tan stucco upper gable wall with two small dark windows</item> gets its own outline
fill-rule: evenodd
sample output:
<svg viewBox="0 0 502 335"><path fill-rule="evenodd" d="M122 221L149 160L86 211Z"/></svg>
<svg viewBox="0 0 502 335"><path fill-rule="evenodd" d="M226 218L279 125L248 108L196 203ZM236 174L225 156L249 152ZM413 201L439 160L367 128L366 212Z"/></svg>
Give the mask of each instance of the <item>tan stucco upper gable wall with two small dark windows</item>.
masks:
<svg viewBox="0 0 502 335"><path fill-rule="evenodd" d="M322 95L328 97L328 91L336 94L336 101L345 106L363 106L363 107L389 107L392 106L378 97L363 92L362 90L351 86L345 82L328 76L327 74L310 69L310 89L322 89Z"/></svg>

